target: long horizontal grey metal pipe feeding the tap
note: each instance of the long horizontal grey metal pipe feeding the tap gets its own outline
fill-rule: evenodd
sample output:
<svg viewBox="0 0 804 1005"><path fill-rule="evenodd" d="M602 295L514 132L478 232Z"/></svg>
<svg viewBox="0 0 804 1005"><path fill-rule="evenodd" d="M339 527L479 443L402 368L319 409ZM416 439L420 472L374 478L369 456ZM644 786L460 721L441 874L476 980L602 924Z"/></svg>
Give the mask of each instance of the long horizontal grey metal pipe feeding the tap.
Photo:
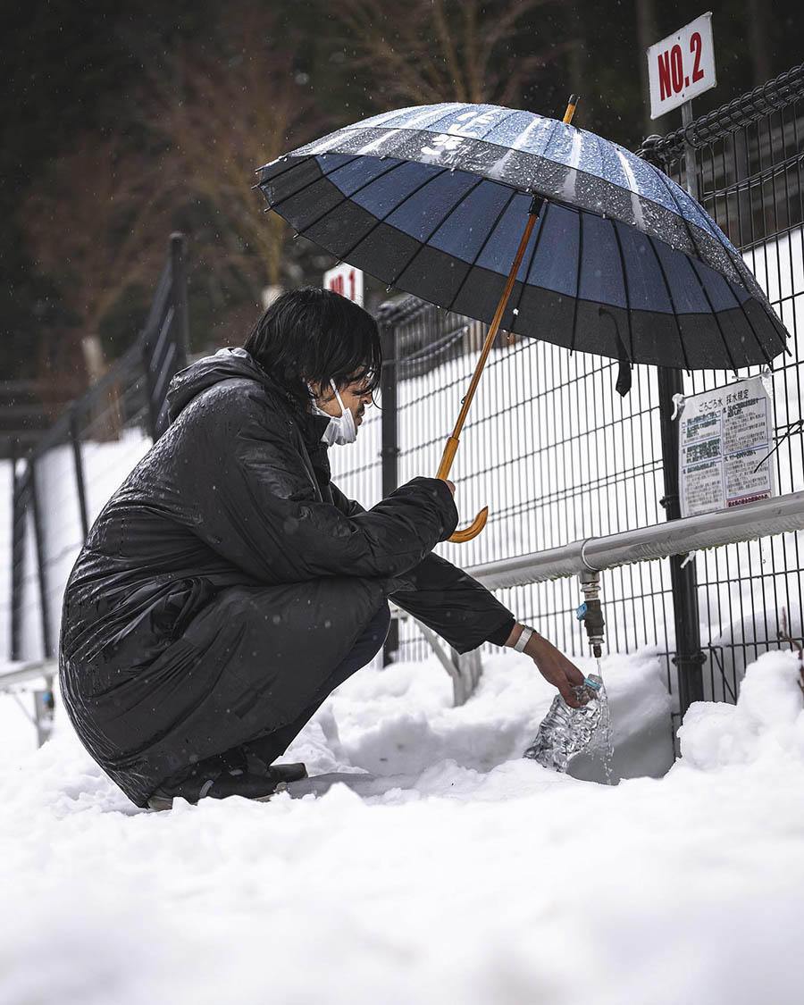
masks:
<svg viewBox="0 0 804 1005"><path fill-rule="evenodd" d="M804 491L791 492L732 510L685 517L622 534L587 538L544 552L486 562L466 572L487 589L498 590L803 530Z"/></svg>

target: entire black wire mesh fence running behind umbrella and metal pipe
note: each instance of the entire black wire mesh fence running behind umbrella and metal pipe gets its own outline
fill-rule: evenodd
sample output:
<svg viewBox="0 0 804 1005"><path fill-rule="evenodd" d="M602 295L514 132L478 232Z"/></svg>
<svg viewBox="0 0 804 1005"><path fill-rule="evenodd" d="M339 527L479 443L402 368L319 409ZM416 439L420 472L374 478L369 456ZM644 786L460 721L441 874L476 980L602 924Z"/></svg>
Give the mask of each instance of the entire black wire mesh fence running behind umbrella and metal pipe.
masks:
<svg viewBox="0 0 804 1005"><path fill-rule="evenodd" d="M804 75L797 68L783 77L783 85L769 84L761 88L763 94L725 107L720 124L712 114L706 129L693 123L680 140L676 134L660 140L654 156L684 184L683 141L692 137L700 201L746 255L791 334L791 355L778 359L773 371L775 440L780 444L774 458L777 485L784 493L804 487L799 422L804 350L798 338L804 324ZM412 297L396 310L399 479L404 481L435 473L476 359L470 350L479 347L484 328L445 318ZM406 359L411 350L419 351L415 369ZM739 376L759 372L753 368ZM439 552L466 567L663 521L657 372L636 368L624 399L615 392L616 378L615 363L501 335L452 474L461 526L486 504L488 523L474 541L439 546ZM684 393L734 379L732 372L687 374ZM353 455L347 466L334 457L341 487L365 505L380 497L380 423L376 416L372 422L370 435L365 435L368 429L361 431L358 461ZM736 699L746 663L779 644L783 610L792 634L801 636L799 548L796 535L785 535L697 557L707 697ZM674 690L668 564L611 570L602 582L609 648L627 652L654 647ZM582 599L575 581L518 587L500 591L499 598L565 651L587 652L574 614ZM404 627L400 657L419 658L425 652L415 629Z"/></svg>

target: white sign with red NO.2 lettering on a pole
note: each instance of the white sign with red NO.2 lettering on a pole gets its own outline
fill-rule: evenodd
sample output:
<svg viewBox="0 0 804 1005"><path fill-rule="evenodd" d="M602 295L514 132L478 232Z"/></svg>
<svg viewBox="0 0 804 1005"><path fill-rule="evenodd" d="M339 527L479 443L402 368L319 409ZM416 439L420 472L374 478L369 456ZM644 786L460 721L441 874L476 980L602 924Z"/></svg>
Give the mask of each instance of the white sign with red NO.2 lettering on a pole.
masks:
<svg viewBox="0 0 804 1005"><path fill-rule="evenodd" d="M701 14L674 35L651 45L647 50L647 72L651 119L714 87L718 81L712 14Z"/></svg>

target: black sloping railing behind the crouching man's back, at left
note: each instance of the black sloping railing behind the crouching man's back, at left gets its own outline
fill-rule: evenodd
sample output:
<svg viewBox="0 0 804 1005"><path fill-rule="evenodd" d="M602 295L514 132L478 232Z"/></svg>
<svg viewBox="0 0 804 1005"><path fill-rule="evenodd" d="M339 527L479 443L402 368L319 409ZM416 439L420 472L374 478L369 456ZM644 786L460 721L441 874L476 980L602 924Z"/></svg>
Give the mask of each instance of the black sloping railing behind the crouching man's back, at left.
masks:
<svg viewBox="0 0 804 1005"><path fill-rule="evenodd" d="M166 426L171 377L187 365L184 238L173 234L135 344L24 457L12 459L12 660L50 658L66 577L112 490Z"/></svg>

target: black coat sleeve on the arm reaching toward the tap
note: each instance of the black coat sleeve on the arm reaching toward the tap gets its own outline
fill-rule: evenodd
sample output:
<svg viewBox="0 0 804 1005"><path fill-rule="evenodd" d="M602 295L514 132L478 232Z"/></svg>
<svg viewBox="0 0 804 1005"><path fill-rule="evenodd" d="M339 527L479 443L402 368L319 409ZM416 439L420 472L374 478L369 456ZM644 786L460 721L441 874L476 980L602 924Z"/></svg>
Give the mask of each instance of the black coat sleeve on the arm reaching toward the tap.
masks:
<svg viewBox="0 0 804 1005"><path fill-rule="evenodd" d="M331 484L335 505L346 514L360 513L359 502ZM405 585L391 596L394 603L432 628L458 652L482 642L505 645L515 617L461 569L438 555L428 555L404 577Z"/></svg>

